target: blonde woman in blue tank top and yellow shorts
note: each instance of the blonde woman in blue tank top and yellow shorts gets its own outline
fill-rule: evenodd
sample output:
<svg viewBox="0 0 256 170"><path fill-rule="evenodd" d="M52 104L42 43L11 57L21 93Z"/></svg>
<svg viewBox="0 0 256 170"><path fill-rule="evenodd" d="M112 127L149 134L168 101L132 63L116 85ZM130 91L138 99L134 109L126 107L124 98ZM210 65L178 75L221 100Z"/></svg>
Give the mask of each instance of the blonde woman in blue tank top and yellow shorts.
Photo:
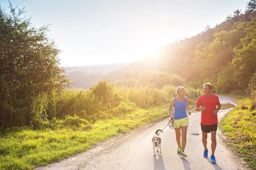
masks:
<svg viewBox="0 0 256 170"><path fill-rule="evenodd" d="M177 153L182 157L188 157L184 151L187 142L187 128L188 128L188 115L191 115L189 110L188 98L185 97L186 90L183 86L176 89L177 97L173 98L169 104L168 112L171 120L174 120L174 128L176 133L176 141L178 144ZM174 114L172 115L171 109L174 107ZM187 112L186 112L187 110ZM180 142L180 136L181 142ZM181 144L180 144L181 143Z"/></svg>

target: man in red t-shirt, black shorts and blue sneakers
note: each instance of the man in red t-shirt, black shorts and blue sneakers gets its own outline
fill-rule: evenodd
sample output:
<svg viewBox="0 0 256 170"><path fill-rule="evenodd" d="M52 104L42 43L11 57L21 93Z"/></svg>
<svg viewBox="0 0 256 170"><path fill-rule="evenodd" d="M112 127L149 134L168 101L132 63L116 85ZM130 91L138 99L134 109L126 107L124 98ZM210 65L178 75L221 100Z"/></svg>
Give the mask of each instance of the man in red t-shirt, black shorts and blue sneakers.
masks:
<svg viewBox="0 0 256 170"><path fill-rule="evenodd" d="M216 131L218 124L217 113L221 108L218 96L212 94L212 84L205 83L203 87L204 94L199 96L196 102L196 111L201 111L201 130L202 130L202 142L204 145L203 157L208 157L207 149L207 133L211 132L211 162L216 163L214 152L216 149ZM216 105L218 106L216 108Z"/></svg>

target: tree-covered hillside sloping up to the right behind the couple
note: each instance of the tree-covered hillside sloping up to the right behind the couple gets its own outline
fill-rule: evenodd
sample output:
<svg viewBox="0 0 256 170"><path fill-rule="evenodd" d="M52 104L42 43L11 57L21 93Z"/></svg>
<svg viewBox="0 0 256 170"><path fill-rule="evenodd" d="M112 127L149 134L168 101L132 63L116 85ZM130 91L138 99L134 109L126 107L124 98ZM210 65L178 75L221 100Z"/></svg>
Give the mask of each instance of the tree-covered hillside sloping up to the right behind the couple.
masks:
<svg viewBox="0 0 256 170"><path fill-rule="evenodd" d="M214 28L165 47L159 68L194 87L212 82L219 93L246 91L256 71L255 1ZM171 65L171 67L169 66Z"/></svg>

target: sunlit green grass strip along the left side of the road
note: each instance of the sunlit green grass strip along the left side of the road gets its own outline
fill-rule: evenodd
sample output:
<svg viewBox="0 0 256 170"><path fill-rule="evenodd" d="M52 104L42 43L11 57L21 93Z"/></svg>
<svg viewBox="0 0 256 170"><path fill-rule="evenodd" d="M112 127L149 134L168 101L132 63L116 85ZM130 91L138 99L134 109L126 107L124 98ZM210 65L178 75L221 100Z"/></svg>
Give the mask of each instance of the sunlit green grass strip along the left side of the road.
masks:
<svg viewBox="0 0 256 170"><path fill-rule="evenodd" d="M0 133L0 169L30 170L59 161L91 148L91 144L105 140L119 132L168 117L168 104L150 109L137 109L119 118L99 120L92 125L7 128ZM52 124L56 124L56 120ZM63 121L62 121L63 123Z"/></svg>

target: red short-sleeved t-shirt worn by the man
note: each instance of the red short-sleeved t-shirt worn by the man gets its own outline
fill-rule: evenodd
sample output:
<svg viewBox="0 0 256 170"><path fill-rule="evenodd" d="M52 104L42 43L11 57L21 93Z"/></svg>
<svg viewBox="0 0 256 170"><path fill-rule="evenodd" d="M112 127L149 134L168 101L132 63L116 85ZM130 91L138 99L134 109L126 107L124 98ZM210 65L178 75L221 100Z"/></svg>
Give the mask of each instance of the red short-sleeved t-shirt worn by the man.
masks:
<svg viewBox="0 0 256 170"><path fill-rule="evenodd" d="M206 111L202 111L201 113L201 125L214 125L218 123L218 117L212 115L212 112L216 109L216 105L220 106L220 101L215 94L211 94L209 97L203 94L198 97L196 107L206 107Z"/></svg>

